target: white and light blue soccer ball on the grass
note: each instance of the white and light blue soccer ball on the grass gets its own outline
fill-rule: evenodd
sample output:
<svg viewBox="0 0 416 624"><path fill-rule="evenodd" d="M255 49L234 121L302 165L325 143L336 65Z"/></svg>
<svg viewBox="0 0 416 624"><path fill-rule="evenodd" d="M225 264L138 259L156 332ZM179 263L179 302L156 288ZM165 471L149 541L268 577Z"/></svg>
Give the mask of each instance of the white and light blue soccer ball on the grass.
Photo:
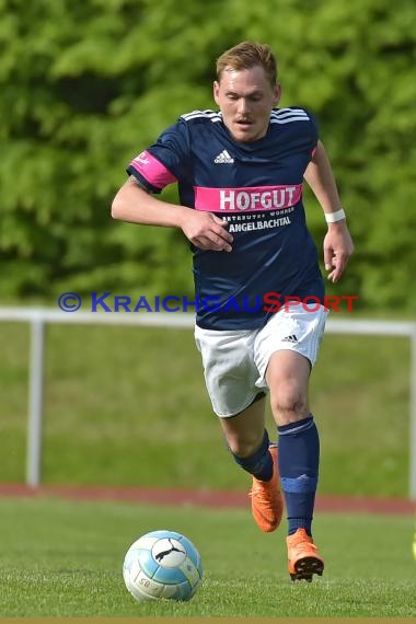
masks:
<svg viewBox="0 0 416 624"><path fill-rule="evenodd" d="M203 578L200 555L175 531L151 531L131 544L123 565L128 591L138 600L190 600Z"/></svg>

